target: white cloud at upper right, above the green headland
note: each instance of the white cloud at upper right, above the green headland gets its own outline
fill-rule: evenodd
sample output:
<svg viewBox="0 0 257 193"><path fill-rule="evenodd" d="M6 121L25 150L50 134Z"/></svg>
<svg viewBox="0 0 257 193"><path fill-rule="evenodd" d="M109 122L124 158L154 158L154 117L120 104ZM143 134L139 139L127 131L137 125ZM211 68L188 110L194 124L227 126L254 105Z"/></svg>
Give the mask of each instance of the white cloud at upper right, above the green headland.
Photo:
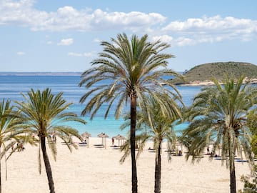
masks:
<svg viewBox="0 0 257 193"><path fill-rule="evenodd" d="M231 39L249 41L257 34L257 21L238 19L232 16L190 18L186 21L172 21L161 31L177 36L177 45L192 45ZM181 41L183 39L183 41Z"/></svg>

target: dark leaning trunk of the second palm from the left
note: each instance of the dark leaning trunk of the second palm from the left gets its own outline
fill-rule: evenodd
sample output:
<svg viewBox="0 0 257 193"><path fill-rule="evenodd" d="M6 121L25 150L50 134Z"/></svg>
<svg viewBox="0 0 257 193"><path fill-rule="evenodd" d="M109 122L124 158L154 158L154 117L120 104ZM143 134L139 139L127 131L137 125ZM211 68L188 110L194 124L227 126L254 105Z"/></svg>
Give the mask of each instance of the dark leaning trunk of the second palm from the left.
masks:
<svg viewBox="0 0 257 193"><path fill-rule="evenodd" d="M43 158L44 158L44 164L46 167L46 174L47 174L47 179L49 181L49 189L50 189L50 193L55 193L54 191L54 179L53 179L53 175L51 172L51 165L49 162L49 157L46 154L46 138L45 137L41 137L41 149L42 149L42 154L43 154Z"/></svg>

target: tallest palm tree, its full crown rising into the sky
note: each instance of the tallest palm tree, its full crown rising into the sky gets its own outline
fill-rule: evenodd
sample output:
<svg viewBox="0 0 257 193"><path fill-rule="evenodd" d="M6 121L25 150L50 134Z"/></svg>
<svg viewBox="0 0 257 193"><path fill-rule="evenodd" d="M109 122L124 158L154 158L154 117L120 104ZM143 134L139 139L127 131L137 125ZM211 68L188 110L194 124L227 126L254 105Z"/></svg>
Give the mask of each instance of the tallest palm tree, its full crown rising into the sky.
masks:
<svg viewBox="0 0 257 193"><path fill-rule="evenodd" d="M163 104L166 99L164 96L173 95L168 87L174 89L175 87L170 81L163 79L163 76L178 76L178 74L166 69L167 59L173 55L161 54L161 51L169 47L168 44L160 41L151 43L147 35L141 39L133 35L129 41L126 34L119 34L117 39L111 41L111 43L101 42L104 51L99 54L99 59L92 61L93 67L81 75L79 86L85 85L86 89L91 87L81 97L81 103L89 99L81 114L91 112L93 119L102 104L109 103L105 117L116 104L114 114L116 119L119 119L124 105L130 102L132 192L136 193L136 107L146 105L146 95L151 95L160 103L162 111L166 109ZM108 84L103 84L104 80L108 80Z"/></svg>

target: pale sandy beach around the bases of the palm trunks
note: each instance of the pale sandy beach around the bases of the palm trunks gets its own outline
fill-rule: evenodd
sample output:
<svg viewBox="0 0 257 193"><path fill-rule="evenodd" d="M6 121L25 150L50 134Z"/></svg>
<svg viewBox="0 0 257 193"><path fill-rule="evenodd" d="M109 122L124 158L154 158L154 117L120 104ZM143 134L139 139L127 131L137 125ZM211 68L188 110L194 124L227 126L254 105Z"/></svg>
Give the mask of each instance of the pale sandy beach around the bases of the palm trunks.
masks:
<svg viewBox="0 0 257 193"><path fill-rule="evenodd" d="M107 139L104 149L94 146L101 144L100 138L90 138L89 148L79 147L72 153L60 140L57 144L56 162L49 152L56 193L131 192L131 159L119 164L122 153L110 147L111 139ZM155 153L148 152L147 148L137 162L138 192L141 193L153 192L154 187ZM38 172L38 153L39 147L29 145L24 152L15 152L7 162L7 181L1 161L2 192L49 192L43 161L41 175ZM236 162L237 189L243 187L242 174L250 174L248 164ZM163 151L161 192L230 192L229 184L229 170L221 166L221 160L209 162L208 156L204 156L200 163L191 164L185 157L174 156L168 163L167 153Z"/></svg>

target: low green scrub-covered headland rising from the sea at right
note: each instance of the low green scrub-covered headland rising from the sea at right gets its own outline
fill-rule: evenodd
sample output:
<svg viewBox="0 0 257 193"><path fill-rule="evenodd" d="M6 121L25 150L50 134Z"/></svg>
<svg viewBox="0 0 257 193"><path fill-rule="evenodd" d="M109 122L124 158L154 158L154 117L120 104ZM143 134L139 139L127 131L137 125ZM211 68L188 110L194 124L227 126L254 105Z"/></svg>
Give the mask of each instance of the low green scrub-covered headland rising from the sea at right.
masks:
<svg viewBox="0 0 257 193"><path fill-rule="evenodd" d="M183 74L185 77L184 84L196 81L209 81L212 77L222 81L224 74L235 78L244 75L249 79L256 79L257 66L251 63L235 61L201 64L194 66ZM178 79L173 79L173 82L175 84L183 84L183 82Z"/></svg>

